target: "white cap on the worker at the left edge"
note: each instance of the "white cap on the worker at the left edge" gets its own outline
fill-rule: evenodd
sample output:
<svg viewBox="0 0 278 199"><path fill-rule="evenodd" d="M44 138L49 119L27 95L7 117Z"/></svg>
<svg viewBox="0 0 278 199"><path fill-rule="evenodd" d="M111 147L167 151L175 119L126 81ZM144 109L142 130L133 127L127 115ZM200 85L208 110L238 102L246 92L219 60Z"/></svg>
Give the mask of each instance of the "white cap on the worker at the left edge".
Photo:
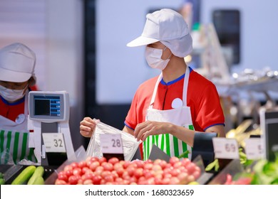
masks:
<svg viewBox="0 0 278 199"><path fill-rule="evenodd" d="M22 43L12 43L0 49L0 80L26 82L34 77L36 55Z"/></svg>

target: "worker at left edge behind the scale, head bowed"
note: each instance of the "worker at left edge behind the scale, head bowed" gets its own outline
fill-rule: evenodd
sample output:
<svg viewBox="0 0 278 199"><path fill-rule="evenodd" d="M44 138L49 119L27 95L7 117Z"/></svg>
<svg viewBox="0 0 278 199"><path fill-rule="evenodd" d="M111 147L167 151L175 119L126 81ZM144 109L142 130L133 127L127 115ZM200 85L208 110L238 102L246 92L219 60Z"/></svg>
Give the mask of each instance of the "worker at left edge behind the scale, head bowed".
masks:
<svg viewBox="0 0 278 199"><path fill-rule="evenodd" d="M28 94L36 90L36 55L22 43L0 49L0 164L36 162L29 149Z"/></svg>

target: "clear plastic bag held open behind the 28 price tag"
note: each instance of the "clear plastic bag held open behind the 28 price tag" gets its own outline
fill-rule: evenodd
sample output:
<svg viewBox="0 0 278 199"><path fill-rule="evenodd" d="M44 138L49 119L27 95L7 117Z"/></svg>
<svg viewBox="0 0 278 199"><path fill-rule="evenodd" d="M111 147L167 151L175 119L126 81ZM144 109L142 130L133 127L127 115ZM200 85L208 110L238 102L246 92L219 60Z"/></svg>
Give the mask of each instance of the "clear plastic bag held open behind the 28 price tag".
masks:
<svg viewBox="0 0 278 199"><path fill-rule="evenodd" d="M110 127L108 124L104 124L97 119L94 120L96 122L96 129L93 132L93 136L91 136L91 140L88 144L86 151L87 156L98 158L103 156L101 152L100 134L120 134L123 143L123 156L125 161L131 161L141 141L137 141L134 136L125 131L120 131L119 129Z"/></svg>

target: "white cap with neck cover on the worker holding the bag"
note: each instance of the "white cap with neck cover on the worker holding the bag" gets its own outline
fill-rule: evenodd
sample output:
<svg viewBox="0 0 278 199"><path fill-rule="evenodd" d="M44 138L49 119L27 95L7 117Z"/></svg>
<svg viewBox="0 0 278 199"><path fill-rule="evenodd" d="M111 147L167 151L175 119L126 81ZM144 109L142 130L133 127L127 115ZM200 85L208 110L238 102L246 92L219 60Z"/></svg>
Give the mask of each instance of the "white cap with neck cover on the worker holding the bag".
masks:
<svg viewBox="0 0 278 199"><path fill-rule="evenodd" d="M161 9L147 14L143 33L127 44L128 47L148 45L160 41L177 57L184 58L192 52L192 38L181 14L172 9Z"/></svg>

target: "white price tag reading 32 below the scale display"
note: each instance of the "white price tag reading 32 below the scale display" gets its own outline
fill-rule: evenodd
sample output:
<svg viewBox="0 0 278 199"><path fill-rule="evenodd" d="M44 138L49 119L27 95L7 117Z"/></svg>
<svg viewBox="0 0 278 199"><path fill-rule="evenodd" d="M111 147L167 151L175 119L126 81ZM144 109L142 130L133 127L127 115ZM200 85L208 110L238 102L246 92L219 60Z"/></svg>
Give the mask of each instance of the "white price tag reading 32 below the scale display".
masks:
<svg viewBox="0 0 278 199"><path fill-rule="evenodd" d="M43 133L43 144L46 149L46 153L66 152L65 141L63 140L63 134L61 133Z"/></svg>

